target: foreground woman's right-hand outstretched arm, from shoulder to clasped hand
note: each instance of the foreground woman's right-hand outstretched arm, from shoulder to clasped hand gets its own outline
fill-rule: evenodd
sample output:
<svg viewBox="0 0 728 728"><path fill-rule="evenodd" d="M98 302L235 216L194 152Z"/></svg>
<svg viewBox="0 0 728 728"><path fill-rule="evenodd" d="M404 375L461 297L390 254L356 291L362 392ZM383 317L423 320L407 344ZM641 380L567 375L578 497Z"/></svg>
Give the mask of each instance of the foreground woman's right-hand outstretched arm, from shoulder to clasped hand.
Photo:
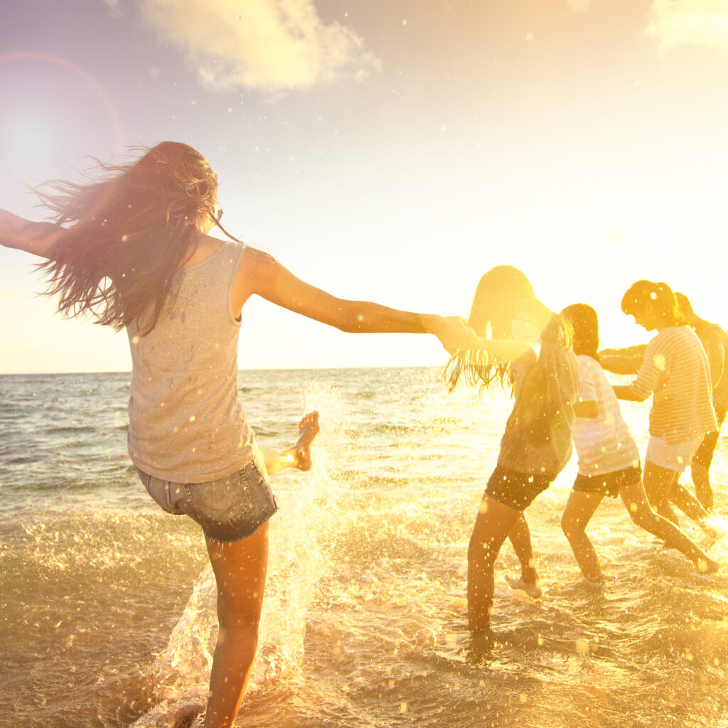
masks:
<svg viewBox="0 0 728 728"><path fill-rule="evenodd" d="M433 333L448 351L454 351L467 332L459 317L420 314L371 301L337 298L297 278L267 253L248 248L233 289L236 314L253 293L277 306L349 333Z"/></svg>

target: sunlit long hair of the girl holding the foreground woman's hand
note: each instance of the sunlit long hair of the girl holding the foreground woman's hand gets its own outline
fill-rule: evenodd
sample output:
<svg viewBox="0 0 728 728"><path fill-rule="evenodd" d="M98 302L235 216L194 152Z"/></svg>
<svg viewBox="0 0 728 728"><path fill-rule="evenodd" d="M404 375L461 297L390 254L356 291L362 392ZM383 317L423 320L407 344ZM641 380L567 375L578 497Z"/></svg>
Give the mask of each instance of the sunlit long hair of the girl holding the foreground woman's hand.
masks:
<svg viewBox="0 0 728 728"><path fill-rule="evenodd" d="M536 298L526 274L514 266L495 266L478 282L467 323L478 336L490 333L493 339L512 339L511 325L515 317L531 314L539 318L546 312L548 309ZM569 348L571 327L558 314L550 314L540 339ZM459 381L479 387L482 392L493 384L500 384L504 389L507 384L512 385L513 373L510 361L496 360L485 349L459 349L450 357L443 380L451 392Z"/></svg>

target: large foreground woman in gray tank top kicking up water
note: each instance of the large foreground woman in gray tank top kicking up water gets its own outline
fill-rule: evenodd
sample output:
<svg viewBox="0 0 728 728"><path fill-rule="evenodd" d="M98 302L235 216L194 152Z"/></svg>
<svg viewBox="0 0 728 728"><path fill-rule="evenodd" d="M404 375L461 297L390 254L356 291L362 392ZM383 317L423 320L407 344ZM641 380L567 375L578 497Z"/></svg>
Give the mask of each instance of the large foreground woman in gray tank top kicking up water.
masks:
<svg viewBox="0 0 728 728"><path fill-rule="evenodd" d="M297 446L258 448L238 400L245 302L261 296L352 333L434 333L448 351L464 331L459 318L336 298L267 253L211 237L213 226L227 235L217 193L205 157L167 141L128 164L101 165L86 183L48 183L39 196L52 222L0 211L0 243L46 258L39 269L59 312L127 331L132 462L163 509L200 523L217 582L205 728L232 725L253 667L277 510L264 457L271 470L306 467L318 428L311 414Z"/></svg>

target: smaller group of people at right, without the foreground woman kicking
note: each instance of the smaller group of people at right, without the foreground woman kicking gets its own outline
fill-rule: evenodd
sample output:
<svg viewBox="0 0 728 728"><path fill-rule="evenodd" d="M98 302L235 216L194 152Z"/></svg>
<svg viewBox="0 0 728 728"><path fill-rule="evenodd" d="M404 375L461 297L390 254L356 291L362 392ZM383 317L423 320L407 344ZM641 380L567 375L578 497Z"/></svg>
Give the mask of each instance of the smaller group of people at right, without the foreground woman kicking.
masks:
<svg viewBox="0 0 728 728"><path fill-rule="evenodd" d="M630 384L613 387L603 368L609 367L610 357L600 363L598 318L591 306L550 311L512 266L496 266L480 279L467 322L468 339L451 358L446 377L451 387L459 381L480 387L507 382L514 403L468 547L468 622L476 633L488 633L494 563L506 538L521 561L521 577L511 585L539 596L524 511L569 462L572 443L578 472L561 526L586 577L601 579L586 527L604 496L620 496L638 526L694 561L699 571L719 568L681 531L670 503L710 529L708 511L678 478L701 452L703 496L712 507L712 497L705 494L711 490L708 467L718 440L713 384L719 391L722 360L719 368L716 353L713 368L708 365L707 341L704 347L665 283L634 283L622 298L622 311L657 335L636 367L635 357L625 366L620 360L625 357L612 355L617 371L636 370ZM692 320L696 330L710 328L713 347L722 347L724 357L728 335L701 322ZM650 395L643 474L619 400L644 401Z"/></svg>

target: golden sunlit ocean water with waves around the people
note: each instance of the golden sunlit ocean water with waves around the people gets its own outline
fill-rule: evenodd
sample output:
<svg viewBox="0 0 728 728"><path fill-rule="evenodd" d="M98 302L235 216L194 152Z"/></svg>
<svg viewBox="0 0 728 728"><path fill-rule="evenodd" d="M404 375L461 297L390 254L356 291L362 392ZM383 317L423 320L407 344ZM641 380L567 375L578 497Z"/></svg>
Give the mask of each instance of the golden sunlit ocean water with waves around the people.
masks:
<svg viewBox="0 0 728 728"><path fill-rule="evenodd" d="M0 377L0 727L185 728L204 703L214 584L197 526L126 454L129 375ZM728 727L728 529L701 576L605 499L604 587L559 521L570 463L527 512L544 597L496 565L490 652L466 625L467 542L510 408L434 368L242 371L261 443L320 411L312 471L282 472L253 681L237 725ZM626 403L641 452L647 405ZM728 456L713 485L728 513ZM686 478L689 482L689 478Z"/></svg>

